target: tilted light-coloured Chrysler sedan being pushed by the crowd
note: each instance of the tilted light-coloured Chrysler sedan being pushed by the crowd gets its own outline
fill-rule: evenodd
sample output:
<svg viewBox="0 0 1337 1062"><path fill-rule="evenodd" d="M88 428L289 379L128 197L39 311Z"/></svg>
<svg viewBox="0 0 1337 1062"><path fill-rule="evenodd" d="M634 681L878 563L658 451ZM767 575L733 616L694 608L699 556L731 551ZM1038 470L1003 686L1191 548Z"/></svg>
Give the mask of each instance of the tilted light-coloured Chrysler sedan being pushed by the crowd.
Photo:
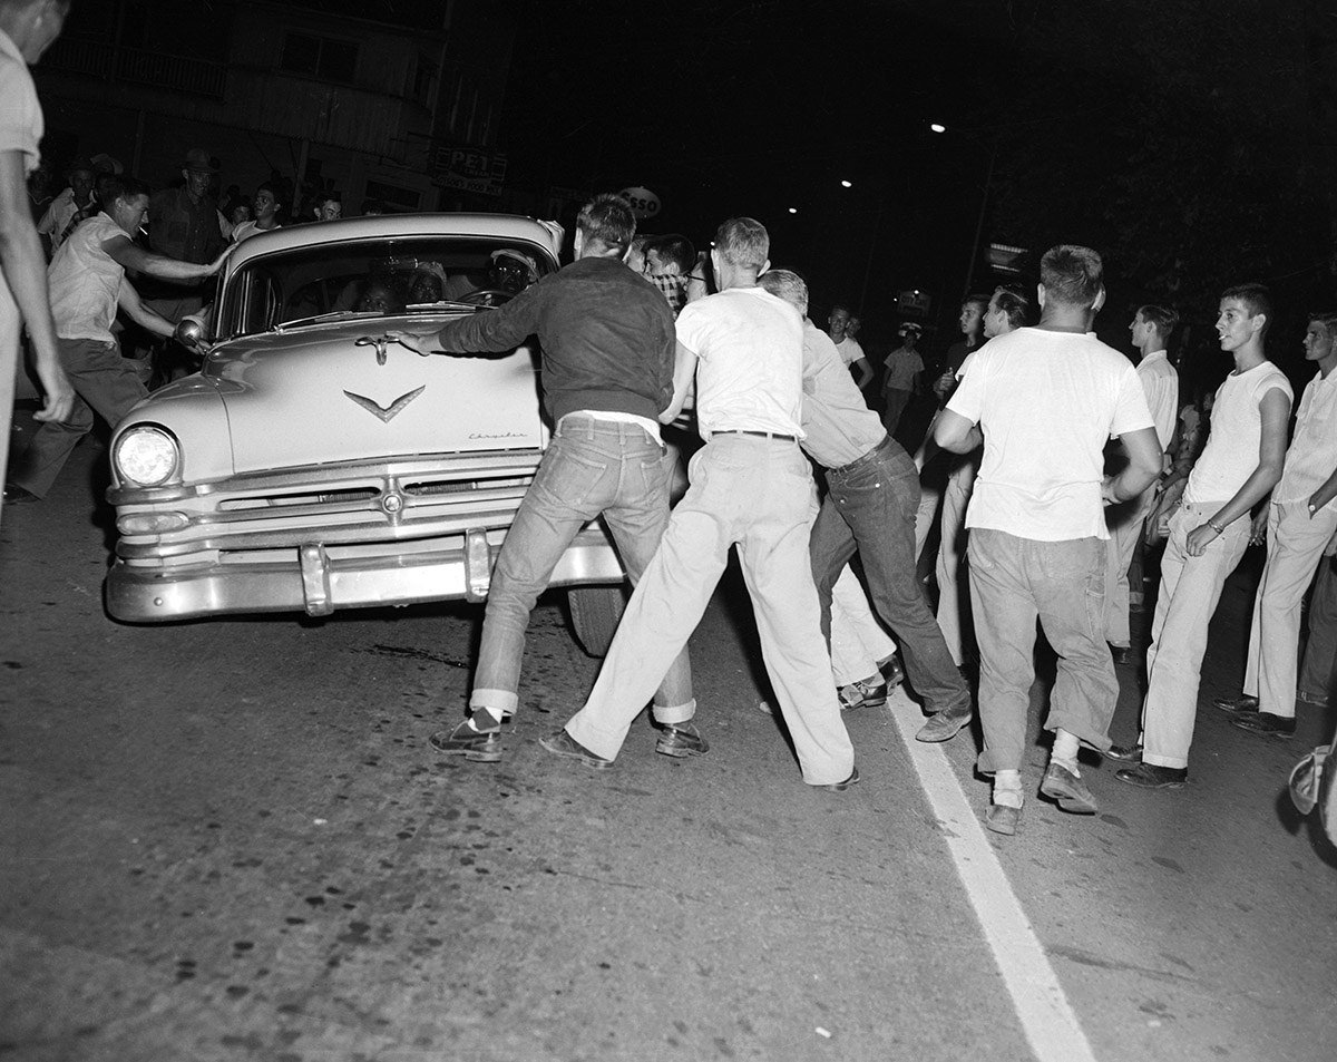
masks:
<svg viewBox="0 0 1337 1062"><path fill-rule="evenodd" d="M352 218L242 243L201 372L150 395L112 439L111 615L485 599L548 441L537 352L422 357L388 333L492 313L555 270L559 249L558 226L489 214ZM552 585L574 589L591 653L612 635L623 579L599 523L558 564Z"/></svg>

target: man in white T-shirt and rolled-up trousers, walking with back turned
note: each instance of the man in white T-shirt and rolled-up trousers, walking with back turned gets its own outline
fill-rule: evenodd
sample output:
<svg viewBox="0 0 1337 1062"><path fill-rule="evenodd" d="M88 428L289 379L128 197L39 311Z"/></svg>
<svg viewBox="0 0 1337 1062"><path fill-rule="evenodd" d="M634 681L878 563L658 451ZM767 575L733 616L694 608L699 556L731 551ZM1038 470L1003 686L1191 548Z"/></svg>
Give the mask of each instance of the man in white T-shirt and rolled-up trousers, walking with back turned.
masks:
<svg viewBox="0 0 1337 1062"><path fill-rule="evenodd" d="M1040 324L991 340L939 416L940 447L984 460L967 512L975 635L980 647L981 773L993 774L988 828L1015 833L1035 678L1035 621L1058 653L1046 728L1055 730L1040 792L1091 815L1079 744L1104 750L1119 697L1104 643L1102 499L1124 502L1161 472L1161 444L1128 360L1090 332L1104 302L1100 255L1058 246L1040 261ZM1103 479L1118 436L1128 465Z"/></svg>

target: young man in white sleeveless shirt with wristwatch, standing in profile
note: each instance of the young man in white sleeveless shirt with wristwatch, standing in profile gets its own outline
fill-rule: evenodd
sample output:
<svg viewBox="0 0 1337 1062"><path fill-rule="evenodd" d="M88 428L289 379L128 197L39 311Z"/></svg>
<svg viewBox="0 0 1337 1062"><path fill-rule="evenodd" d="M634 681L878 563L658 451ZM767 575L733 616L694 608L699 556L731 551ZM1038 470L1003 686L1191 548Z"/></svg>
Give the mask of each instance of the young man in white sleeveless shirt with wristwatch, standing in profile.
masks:
<svg viewBox="0 0 1337 1062"><path fill-rule="evenodd" d="M1221 587L1249 546L1249 510L1277 486L1286 455L1293 392L1263 353L1271 320L1267 289L1230 288L1219 309L1221 349L1233 354L1235 368L1217 391L1207 447L1170 518L1147 650L1142 738L1132 748L1111 749L1123 760L1140 753L1139 764L1115 777L1143 789L1179 789L1189 777L1207 625Z"/></svg>

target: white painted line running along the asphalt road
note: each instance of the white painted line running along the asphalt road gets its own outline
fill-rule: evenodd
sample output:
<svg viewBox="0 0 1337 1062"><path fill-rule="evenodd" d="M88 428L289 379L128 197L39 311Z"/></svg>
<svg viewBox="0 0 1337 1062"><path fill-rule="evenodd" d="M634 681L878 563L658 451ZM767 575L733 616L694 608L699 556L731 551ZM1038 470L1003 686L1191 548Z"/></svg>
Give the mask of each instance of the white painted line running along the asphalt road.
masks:
<svg viewBox="0 0 1337 1062"><path fill-rule="evenodd" d="M915 740L915 732L924 725L919 705L896 690L886 700L886 706L915 764L929 808L941 823L956 873L971 897L1038 1062L1095 1062L1078 1015L1063 994L1044 947L1012 892L1012 884L947 754L940 745ZM1021 821L1025 823L1024 815Z"/></svg>

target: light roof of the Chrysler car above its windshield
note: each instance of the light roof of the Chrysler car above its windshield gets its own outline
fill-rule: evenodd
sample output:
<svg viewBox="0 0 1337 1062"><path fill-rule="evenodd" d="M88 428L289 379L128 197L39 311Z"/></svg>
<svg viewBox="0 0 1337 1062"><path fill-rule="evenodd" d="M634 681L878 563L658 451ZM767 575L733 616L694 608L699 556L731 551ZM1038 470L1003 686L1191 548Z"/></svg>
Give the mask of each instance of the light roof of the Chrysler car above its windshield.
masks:
<svg viewBox="0 0 1337 1062"><path fill-rule="evenodd" d="M556 222L540 222L520 214L377 214L365 218L283 225L267 233L257 233L237 245L237 250L227 259L226 270L231 273L255 255L294 247L413 235L523 239L548 251L554 262L562 251L562 227Z"/></svg>

